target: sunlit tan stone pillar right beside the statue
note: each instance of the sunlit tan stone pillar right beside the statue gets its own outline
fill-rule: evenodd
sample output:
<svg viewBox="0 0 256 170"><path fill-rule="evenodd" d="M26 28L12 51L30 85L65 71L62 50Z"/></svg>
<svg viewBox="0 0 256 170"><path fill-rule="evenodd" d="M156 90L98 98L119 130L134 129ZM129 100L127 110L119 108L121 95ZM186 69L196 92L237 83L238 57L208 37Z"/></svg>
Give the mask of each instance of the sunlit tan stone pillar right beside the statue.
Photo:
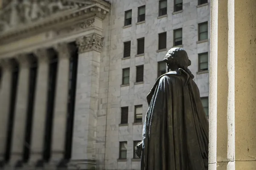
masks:
<svg viewBox="0 0 256 170"><path fill-rule="evenodd" d="M254 170L256 2L211 5L209 170Z"/></svg>

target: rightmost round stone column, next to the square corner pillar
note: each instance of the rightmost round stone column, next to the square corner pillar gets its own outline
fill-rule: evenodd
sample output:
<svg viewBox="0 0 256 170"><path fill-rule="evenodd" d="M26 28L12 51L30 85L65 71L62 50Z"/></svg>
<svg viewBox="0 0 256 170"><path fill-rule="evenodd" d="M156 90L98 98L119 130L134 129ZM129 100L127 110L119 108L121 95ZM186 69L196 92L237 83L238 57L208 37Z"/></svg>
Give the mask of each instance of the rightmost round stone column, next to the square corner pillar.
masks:
<svg viewBox="0 0 256 170"><path fill-rule="evenodd" d="M53 164L60 163L64 158L66 122L67 122L67 99L70 65L70 46L67 43L58 44L55 47L58 52L58 75L56 81L56 97L52 128L52 156Z"/></svg>

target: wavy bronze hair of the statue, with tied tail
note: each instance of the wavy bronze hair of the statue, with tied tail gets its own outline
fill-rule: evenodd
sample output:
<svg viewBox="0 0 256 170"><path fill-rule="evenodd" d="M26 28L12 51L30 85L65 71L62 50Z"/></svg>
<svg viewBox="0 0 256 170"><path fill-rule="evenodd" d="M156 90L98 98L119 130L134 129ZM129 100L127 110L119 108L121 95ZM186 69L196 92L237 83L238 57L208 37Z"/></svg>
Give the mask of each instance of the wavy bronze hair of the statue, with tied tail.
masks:
<svg viewBox="0 0 256 170"><path fill-rule="evenodd" d="M189 76L193 79L194 75L189 70L188 66L191 65L188 54L183 48L171 48L163 59L167 64L176 64L178 67L186 71Z"/></svg>

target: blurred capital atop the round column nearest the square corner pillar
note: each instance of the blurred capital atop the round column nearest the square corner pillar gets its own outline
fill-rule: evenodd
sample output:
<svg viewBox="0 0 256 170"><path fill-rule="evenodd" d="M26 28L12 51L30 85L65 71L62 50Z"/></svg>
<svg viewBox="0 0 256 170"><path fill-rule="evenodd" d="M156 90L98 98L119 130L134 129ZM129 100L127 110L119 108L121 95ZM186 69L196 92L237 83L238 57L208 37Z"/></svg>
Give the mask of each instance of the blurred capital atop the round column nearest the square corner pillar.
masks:
<svg viewBox="0 0 256 170"><path fill-rule="evenodd" d="M69 58L72 53L72 49L67 42L58 43L53 47L58 52L59 58Z"/></svg>

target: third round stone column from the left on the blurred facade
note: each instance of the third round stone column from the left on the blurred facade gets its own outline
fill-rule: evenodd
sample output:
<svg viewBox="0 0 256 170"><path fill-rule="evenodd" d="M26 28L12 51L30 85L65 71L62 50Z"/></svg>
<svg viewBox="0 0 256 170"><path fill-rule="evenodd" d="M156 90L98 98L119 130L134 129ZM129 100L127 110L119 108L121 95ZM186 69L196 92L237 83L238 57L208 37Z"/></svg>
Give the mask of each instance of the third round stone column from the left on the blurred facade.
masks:
<svg viewBox="0 0 256 170"><path fill-rule="evenodd" d="M49 74L49 54L47 49L35 51L38 57L38 74L35 90L35 107L33 111L31 153L29 165L42 166L44 152L44 131L47 112L47 89Z"/></svg>

